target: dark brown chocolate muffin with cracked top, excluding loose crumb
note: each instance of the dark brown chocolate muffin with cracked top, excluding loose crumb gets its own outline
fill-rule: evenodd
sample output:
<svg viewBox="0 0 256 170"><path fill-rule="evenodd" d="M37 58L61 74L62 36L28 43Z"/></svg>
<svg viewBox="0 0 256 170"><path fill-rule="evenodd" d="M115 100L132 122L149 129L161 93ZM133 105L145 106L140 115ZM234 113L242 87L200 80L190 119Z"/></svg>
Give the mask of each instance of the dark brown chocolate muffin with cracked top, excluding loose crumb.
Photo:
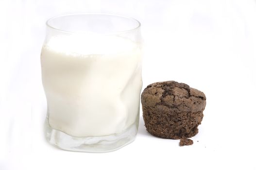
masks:
<svg viewBox="0 0 256 170"><path fill-rule="evenodd" d="M154 136L181 139L195 136L204 117L205 94L184 83L157 82L141 94L143 119Z"/></svg>

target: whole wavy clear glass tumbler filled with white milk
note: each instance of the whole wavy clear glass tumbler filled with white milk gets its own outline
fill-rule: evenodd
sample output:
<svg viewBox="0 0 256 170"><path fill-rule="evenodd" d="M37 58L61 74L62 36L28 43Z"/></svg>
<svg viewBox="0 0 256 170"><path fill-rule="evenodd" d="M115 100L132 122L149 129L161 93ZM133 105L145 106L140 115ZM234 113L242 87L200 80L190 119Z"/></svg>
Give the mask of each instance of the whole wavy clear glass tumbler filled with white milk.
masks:
<svg viewBox="0 0 256 170"><path fill-rule="evenodd" d="M109 152L131 143L142 86L140 23L71 14L46 25L41 68L49 143L80 152Z"/></svg>

